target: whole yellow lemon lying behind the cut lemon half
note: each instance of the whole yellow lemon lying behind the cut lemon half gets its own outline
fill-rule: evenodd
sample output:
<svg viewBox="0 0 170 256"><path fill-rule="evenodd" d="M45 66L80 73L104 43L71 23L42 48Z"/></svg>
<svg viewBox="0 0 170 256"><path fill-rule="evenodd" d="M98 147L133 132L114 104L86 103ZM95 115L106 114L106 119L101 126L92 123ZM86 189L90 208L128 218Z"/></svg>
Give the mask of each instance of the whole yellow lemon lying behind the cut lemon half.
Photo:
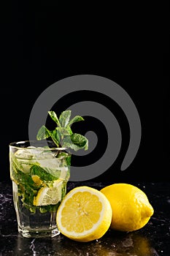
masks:
<svg viewBox="0 0 170 256"><path fill-rule="evenodd" d="M111 229L134 231L149 222L154 210L147 195L131 184L112 184L101 189L112 207Z"/></svg>

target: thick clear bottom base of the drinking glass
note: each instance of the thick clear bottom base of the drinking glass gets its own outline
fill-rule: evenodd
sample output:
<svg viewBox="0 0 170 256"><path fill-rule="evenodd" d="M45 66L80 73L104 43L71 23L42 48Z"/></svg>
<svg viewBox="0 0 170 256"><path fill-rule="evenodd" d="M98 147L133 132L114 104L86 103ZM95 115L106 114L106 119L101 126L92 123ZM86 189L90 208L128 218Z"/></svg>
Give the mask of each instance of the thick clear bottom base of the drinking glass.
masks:
<svg viewBox="0 0 170 256"><path fill-rule="evenodd" d="M18 227L18 232L21 236L26 238L53 238L60 234L58 228L54 228L53 230L28 230Z"/></svg>

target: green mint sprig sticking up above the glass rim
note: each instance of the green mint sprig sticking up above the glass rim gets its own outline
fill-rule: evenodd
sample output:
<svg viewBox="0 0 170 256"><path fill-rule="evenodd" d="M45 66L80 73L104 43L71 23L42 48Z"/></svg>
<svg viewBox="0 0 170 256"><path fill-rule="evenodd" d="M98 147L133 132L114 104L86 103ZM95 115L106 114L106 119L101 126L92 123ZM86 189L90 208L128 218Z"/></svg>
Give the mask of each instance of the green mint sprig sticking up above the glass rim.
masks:
<svg viewBox="0 0 170 256"><path fill-rule="evenodd" d="M37 132L36 139L45 140L47 138L52 138L57 147L72 148L74 151L81 148L88 150L88 139L79 133L72 132L71 128L73 123L84 121L84 118L82 118L82 116L74 116L74 118L70 120L71 113L71 110L63 111L58 118L54 111L48 111L48 114L53 121L55 121L57 127L50 131L45 125L42 125Z"/></svg>

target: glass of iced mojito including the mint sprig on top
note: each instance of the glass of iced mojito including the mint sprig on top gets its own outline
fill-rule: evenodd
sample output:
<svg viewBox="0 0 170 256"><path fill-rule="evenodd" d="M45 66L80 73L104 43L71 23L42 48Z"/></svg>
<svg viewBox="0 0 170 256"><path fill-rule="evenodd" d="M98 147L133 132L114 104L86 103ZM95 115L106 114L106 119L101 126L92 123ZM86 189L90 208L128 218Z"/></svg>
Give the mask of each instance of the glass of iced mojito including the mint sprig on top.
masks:
<svg viewBox="0 0 170 256"><path fill-rule="evenodd" d="M42 125L36 140L9 144L10 177L23 237L54 237L59 234L56 214L66 195L72 151L88 149L88 139L72 131L72 124L84 120L71 118L71 110L58 116L48 111L55 129Z"/></svg>

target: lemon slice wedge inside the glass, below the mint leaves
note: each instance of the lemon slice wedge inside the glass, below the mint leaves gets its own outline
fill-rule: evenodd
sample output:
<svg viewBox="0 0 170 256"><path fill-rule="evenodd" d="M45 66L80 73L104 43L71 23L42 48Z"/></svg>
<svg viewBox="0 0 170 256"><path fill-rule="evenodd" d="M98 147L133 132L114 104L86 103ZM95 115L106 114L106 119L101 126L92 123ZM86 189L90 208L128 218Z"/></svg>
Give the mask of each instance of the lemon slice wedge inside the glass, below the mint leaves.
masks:
<svg viewBox="0 0 170 256"><path fill-rule="evenodd" d="M58 179L59 180L59 179ZM42 187L34 197L34 206L55 205L61 201L63 181L54 181L53 187Z"/></svg>

